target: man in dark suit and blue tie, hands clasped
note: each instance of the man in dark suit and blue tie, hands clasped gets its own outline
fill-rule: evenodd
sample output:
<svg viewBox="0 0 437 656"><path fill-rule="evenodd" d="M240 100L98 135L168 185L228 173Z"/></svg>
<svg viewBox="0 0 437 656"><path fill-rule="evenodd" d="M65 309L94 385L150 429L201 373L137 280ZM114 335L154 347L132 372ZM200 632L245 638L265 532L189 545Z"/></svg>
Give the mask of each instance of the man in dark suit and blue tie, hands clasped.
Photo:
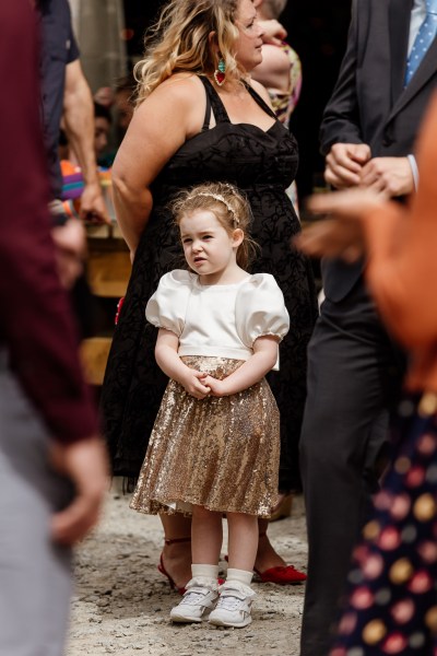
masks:
<svg viewBox="0 0 437 656"><path fill-rule="evenodd" d="M429 1L353 1L347 50L321 126L326 179L334 187L402 198L418 184L414 144L437 84ZM420 38L425 21L427 48ZM385 460L387 410L402 379L403 356L362 270L363 262L323 266L326 301L309 345L300 441L309 546L303 656L329 651L351 552Z"/></svg>

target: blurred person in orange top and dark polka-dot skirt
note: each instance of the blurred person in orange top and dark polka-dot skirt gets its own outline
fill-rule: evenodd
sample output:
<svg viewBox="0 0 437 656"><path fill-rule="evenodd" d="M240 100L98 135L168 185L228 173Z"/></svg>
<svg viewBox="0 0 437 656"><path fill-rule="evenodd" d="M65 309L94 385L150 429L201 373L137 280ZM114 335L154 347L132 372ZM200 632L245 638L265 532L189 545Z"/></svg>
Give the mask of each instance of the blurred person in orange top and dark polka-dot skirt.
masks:
<svg viewBox="0 0 437 656"><path fill-rule="evenodd" d="M406 207L375 190L314 197L329 213L298 245L310 256L367 256L365 277L389 331L409 352L393 454L354 551L349 601L331 656L437 653L437 96L417 148Z"/></svg>

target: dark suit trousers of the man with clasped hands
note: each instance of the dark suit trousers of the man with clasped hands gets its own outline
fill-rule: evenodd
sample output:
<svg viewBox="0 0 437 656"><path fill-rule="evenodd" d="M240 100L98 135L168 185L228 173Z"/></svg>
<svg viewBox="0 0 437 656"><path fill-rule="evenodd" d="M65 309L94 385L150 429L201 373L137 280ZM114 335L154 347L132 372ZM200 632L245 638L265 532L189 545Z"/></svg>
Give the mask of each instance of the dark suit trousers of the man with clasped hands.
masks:
<svg viewBox="0 0 437 656"><path fill-rule="evenodd" d="M308 581L302 655L327 656L351 553L387 458L403 356L363 286L324 301L308 351L300 437Z"/></svg>

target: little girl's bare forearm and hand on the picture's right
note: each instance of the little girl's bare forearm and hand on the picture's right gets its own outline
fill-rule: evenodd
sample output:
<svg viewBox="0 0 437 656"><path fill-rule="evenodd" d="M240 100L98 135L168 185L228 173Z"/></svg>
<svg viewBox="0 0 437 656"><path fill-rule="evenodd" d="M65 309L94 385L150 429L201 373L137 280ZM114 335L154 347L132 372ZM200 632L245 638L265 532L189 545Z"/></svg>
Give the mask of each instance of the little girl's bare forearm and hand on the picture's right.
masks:
<svg viewBox="0 0 437 656"><path fill-rule="evenodd" d="M229 396L251 387L274 367L277 360L277 342L279 339L274 336L259 337L253 343L253 355L233 374L223 380L204 376L202 383L211 388L211 395L216 397Z"/></svg>

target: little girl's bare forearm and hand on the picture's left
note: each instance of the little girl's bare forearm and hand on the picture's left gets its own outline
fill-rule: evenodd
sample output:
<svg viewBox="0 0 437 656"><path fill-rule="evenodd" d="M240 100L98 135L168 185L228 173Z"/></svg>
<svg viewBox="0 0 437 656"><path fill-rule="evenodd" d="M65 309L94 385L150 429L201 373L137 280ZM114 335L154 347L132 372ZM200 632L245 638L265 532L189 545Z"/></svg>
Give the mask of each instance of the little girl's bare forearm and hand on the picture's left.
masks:
<svg viewBox="0 0 437 656"><path fill-rule="evenodd" d="M188 394L197 399L203 399L210 388L201 382L204 374L190 368L178 355L179 339L177 335L165 328L157 333L155 358L162 371L173 380L180 383Z"/></svg>

